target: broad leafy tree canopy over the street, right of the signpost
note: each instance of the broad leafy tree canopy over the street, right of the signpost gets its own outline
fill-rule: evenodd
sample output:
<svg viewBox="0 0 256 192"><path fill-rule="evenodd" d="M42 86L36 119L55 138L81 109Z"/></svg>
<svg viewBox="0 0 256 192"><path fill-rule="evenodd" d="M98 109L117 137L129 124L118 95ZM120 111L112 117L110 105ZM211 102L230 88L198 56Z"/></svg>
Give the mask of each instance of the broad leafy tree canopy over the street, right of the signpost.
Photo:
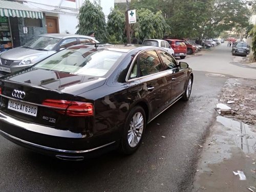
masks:
<svg viewBox="0 0 256 192"><path fill-rule="evenodd" d="M132 0L132 9L161 11L171 37L212 38L248 26L245 0Z"/></svg>

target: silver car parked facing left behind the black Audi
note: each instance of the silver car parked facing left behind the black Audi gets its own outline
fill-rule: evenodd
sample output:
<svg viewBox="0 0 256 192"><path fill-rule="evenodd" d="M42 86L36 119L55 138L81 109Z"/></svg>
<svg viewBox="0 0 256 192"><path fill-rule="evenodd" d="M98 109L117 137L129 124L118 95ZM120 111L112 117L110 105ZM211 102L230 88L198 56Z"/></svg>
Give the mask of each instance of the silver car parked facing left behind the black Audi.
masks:
<svg viewBox="0 0 256 192"><path fill-rule="evenodd" d="M8 74L34 65L50 55L76 44L98 44L86 35L49 33L39 35L22 47L0 53L0 72Z"/></svg>

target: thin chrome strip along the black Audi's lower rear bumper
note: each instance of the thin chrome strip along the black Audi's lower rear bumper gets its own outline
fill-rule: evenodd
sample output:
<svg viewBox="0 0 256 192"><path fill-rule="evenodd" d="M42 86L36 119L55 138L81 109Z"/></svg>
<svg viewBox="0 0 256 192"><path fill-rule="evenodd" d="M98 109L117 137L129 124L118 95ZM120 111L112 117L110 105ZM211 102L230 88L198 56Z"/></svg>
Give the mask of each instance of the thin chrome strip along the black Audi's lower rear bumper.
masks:
<svg viewBox="0 0 256 192"><path fill-rule="evenodd" d="M92 152L92 151L98 150L99 148L111 145L111 144L116 142L116 141L113 141L111 143L107 143L107 144L104 144L104 145L101 145L101 146L98 146L98 147L95 147L95 148L91 148L90 150L72 151L72 150L60 150L59 148L52 148L52 147L48 147L48 146L42 146L42 145L39 145L39 144L35 144L35 143L29 142L29 141L25 141L23 139L19 139L17 137L12 136L12 135L9 135L9 134L3 132L2 130L0 130L0 133L5 135L6 137L10 137L14 140L17 140L19 142L22 142L22 143L25 143L25 144L28 144L28 145L31 145L31 146L34 146L34 147L42 148L42 149L48 150L48 151L54 151L54 152L60 152L60 153L70 153L70 154L80 154L80 153Z"/></svg>

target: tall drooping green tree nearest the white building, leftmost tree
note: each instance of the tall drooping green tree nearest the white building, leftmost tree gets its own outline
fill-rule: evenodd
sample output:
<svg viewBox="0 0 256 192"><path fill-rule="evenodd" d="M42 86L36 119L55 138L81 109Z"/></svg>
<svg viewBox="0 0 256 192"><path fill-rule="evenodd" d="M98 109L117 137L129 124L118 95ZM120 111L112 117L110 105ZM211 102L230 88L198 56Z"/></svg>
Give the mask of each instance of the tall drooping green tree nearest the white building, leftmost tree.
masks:
<svg viewBox="0 0 256 192"><path fill-rule="evenodd" d="M95 38L101 42L106 41L105 16L98 4L92 4L89 0L84 1L78 14L77 34L89 35L94 32Z"/></svg>

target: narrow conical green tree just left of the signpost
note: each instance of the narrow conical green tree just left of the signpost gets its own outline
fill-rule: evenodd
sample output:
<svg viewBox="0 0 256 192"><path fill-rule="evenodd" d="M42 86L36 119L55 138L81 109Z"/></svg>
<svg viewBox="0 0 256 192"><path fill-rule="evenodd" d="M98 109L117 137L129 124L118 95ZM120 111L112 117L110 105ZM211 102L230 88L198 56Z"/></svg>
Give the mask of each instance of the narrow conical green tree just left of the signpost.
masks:
<svg viewBox="0 0 256 192"><path fill-rule="evenodd" d="M109 42L123 42L125 39L125 15L118 9L113 9L108 16L107 31L110 35Z"/></svg>

